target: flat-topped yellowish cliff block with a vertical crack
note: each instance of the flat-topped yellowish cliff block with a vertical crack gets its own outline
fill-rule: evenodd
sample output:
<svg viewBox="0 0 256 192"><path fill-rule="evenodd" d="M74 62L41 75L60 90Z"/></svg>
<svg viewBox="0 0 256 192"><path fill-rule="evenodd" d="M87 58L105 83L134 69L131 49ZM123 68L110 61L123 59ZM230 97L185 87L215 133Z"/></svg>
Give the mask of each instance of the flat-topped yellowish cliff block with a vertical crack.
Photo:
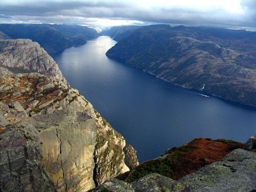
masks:
<svg viewBox="0 0 256 192"><path fill-rule="evenodd" d="M31 121L40 131L43 162L57 191L87 191L93 180L96 124L72 108Z"/></svg>

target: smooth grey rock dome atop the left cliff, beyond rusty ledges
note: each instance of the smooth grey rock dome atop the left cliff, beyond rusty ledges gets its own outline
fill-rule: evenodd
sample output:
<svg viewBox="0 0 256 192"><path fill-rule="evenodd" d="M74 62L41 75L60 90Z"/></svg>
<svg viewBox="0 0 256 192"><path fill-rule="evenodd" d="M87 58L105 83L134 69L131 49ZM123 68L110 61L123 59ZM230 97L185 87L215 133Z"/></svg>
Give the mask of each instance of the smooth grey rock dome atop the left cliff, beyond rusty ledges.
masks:
<svg viewBox="0 0 256 192"><path fill-rule="evenodd" d="M67 82L53 58L30 39L0 40L0 67L13 73L37 72Z"/></svg>

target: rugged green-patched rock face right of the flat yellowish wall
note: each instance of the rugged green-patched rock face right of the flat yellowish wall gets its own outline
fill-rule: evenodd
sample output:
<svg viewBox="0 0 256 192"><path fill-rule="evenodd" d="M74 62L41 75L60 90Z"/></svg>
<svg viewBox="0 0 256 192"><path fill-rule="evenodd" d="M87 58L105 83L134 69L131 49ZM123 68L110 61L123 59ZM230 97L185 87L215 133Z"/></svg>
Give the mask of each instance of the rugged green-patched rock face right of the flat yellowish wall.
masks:
<svg viewBox="0 0 256 192"><path fill-rule="evenodd" d="M117 133L98 113L96 113L96 118L95 182L99 185L130 169L124 162L125 140L123 136Z"/></svg>

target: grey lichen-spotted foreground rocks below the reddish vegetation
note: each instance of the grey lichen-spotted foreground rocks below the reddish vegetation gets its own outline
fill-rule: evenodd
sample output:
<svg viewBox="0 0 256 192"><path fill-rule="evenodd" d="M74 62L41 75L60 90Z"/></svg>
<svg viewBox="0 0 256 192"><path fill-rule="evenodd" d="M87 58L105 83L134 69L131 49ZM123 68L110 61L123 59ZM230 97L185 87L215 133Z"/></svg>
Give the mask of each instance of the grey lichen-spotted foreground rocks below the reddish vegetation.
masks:
<svg viewBox="0 0 256 192"><path fill-rule="evenodd" d="M191 162L190 162L191 163ZM160 174L146 175L132 183L106 181L94 191L254 191L256 153L242 149L230 152L222 161L200 168L175 181ZM189 166L189 163L187 164Z"/></svg>

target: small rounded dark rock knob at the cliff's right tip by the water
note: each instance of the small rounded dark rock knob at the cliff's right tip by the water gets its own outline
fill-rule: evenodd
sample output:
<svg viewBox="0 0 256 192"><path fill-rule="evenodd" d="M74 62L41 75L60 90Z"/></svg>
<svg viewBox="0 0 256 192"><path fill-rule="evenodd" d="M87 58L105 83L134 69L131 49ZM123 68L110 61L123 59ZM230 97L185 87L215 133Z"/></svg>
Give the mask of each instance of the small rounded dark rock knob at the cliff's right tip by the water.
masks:
<svg viewBox="0 0 256 192"><path fill-rule="evenodd" d="M123 148L124 162L131 169L138 166L139 161L137 159L136 150L132 145L126 144Z"/></svg>

